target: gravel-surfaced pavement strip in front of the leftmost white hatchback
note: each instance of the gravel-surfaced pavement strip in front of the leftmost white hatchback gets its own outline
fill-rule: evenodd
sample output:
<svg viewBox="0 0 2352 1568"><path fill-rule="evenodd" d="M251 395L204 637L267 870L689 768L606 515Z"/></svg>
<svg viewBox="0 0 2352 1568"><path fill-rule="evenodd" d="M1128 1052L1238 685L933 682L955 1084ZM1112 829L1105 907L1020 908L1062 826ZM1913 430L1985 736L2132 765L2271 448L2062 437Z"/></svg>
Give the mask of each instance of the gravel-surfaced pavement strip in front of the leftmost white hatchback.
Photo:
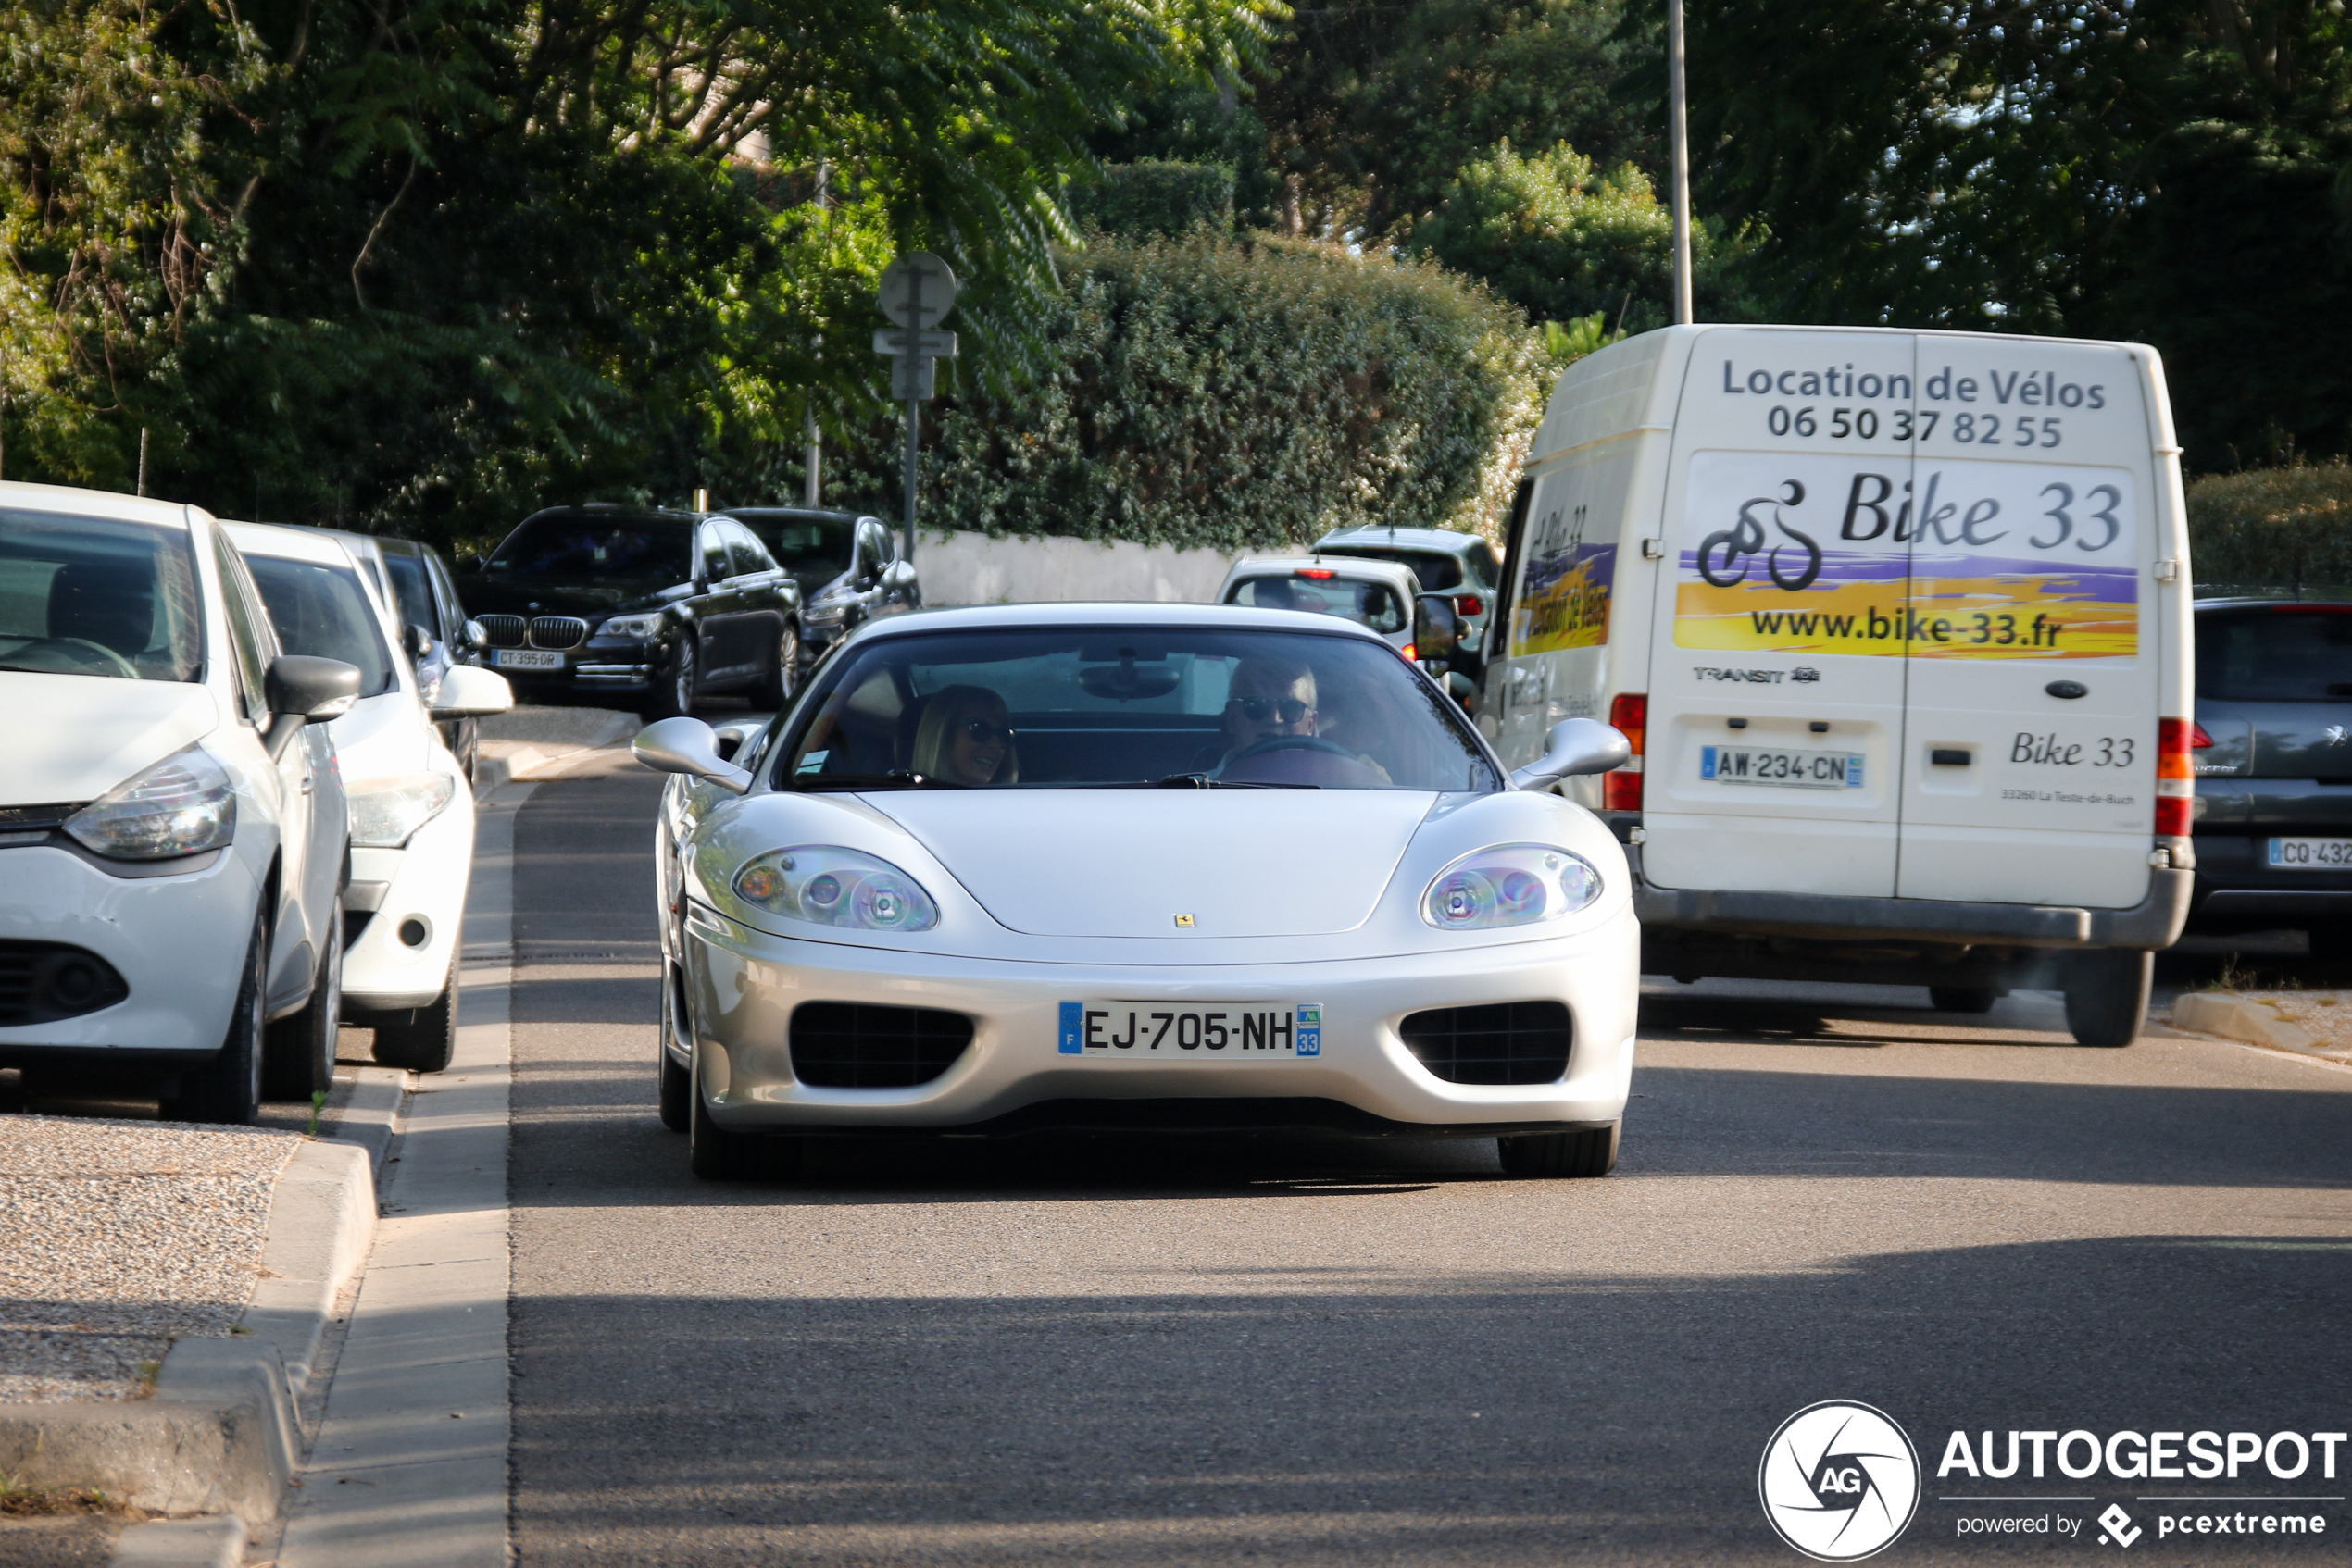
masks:
<svg viewBox="0 0 2352 1568"><path fill-rule="evenodd" d="M0 1117L0 1401L139 1399L174 1338L228 1335L299 1143Z"/></svg>

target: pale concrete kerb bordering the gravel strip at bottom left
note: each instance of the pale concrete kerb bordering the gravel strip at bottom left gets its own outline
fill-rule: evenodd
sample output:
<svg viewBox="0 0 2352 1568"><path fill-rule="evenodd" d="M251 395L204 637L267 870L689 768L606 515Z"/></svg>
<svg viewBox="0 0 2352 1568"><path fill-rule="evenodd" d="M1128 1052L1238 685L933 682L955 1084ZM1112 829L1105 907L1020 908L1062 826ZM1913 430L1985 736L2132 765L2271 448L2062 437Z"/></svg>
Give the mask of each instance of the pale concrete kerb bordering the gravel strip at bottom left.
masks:
<svg viewBox="0 0 2352 1568"><path fill-rule="evenodd" d="M381 1081L362 1079L355 1103L362 1091L390 1126L397 1093L386 1098ZM31 1486L96 1486L155 1514L226 1514L132 1526L113 1556L125 1568L240 1561L247 1533L285 1509L301 1462L299 1401L336 1298L367 1265L374 1237L367 1143L303 1143L270 1192L263 1276L242 1333L174 1342L153 1399L0 1408L0 1472Z"/></svg>

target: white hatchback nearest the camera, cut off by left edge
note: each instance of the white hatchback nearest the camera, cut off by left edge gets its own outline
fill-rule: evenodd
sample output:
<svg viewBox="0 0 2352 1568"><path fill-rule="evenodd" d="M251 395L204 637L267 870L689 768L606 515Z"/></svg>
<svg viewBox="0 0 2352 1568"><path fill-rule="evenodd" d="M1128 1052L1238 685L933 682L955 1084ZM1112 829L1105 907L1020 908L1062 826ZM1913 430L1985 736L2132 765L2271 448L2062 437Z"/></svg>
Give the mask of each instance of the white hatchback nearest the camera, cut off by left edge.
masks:
<svg viewBox="0 0 2352 1568"><path fill-rule="evenodd" d="M0 484L0 1065L183 1121L329 1084L355 691L205 512Z"/></svg>

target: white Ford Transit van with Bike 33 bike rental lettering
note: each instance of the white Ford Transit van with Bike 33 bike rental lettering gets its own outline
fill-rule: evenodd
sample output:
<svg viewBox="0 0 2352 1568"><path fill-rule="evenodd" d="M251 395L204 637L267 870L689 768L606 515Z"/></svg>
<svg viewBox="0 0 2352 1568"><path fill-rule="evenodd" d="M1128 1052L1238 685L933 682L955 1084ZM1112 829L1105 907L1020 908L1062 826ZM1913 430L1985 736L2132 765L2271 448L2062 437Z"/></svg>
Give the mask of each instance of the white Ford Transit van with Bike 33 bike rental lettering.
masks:
<svg viewBox="0 0 2352 1568"><path fill-rule="evenodd" d="M1668 327L1569 367L1510 515L1479 726L1569 780L1644 971L2060 987L2129 1044L2187 912L2190 571L2136 343Z"/></svg>

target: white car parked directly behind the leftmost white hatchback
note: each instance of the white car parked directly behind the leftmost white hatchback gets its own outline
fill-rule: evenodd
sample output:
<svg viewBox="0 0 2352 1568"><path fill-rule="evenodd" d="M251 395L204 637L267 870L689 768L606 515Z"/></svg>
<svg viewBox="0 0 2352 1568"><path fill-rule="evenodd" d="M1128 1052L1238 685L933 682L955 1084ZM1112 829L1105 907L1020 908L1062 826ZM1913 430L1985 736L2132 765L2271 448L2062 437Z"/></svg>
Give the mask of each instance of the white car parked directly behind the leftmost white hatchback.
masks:
<svg viewBox="0 0 2352 1568"><path fill-rule="evenodd" d="M360 670L334 719L350 795L343 891L343 1023L376 1032L376 1060L440 1072L456 1046L459 957L473 882L473 785L435 722L506 712L506 677L454 665L426 705L400 623L322 529L230 522L289 649Z"/></svg>

